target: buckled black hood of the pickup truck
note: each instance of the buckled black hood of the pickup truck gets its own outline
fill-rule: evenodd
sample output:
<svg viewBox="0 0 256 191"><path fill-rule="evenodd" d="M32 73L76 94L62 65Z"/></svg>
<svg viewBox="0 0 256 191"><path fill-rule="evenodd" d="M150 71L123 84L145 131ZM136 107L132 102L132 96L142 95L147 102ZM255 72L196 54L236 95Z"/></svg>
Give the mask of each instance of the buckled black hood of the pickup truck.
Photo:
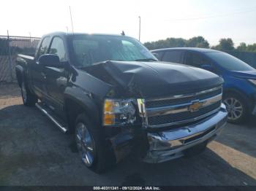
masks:
<svg viewBox="0 0 256 191"><path fill-rule="evenodd" d="M177 63L106 61L83 70L138 98L193 93L223 83L210 71Z"/></svg>

